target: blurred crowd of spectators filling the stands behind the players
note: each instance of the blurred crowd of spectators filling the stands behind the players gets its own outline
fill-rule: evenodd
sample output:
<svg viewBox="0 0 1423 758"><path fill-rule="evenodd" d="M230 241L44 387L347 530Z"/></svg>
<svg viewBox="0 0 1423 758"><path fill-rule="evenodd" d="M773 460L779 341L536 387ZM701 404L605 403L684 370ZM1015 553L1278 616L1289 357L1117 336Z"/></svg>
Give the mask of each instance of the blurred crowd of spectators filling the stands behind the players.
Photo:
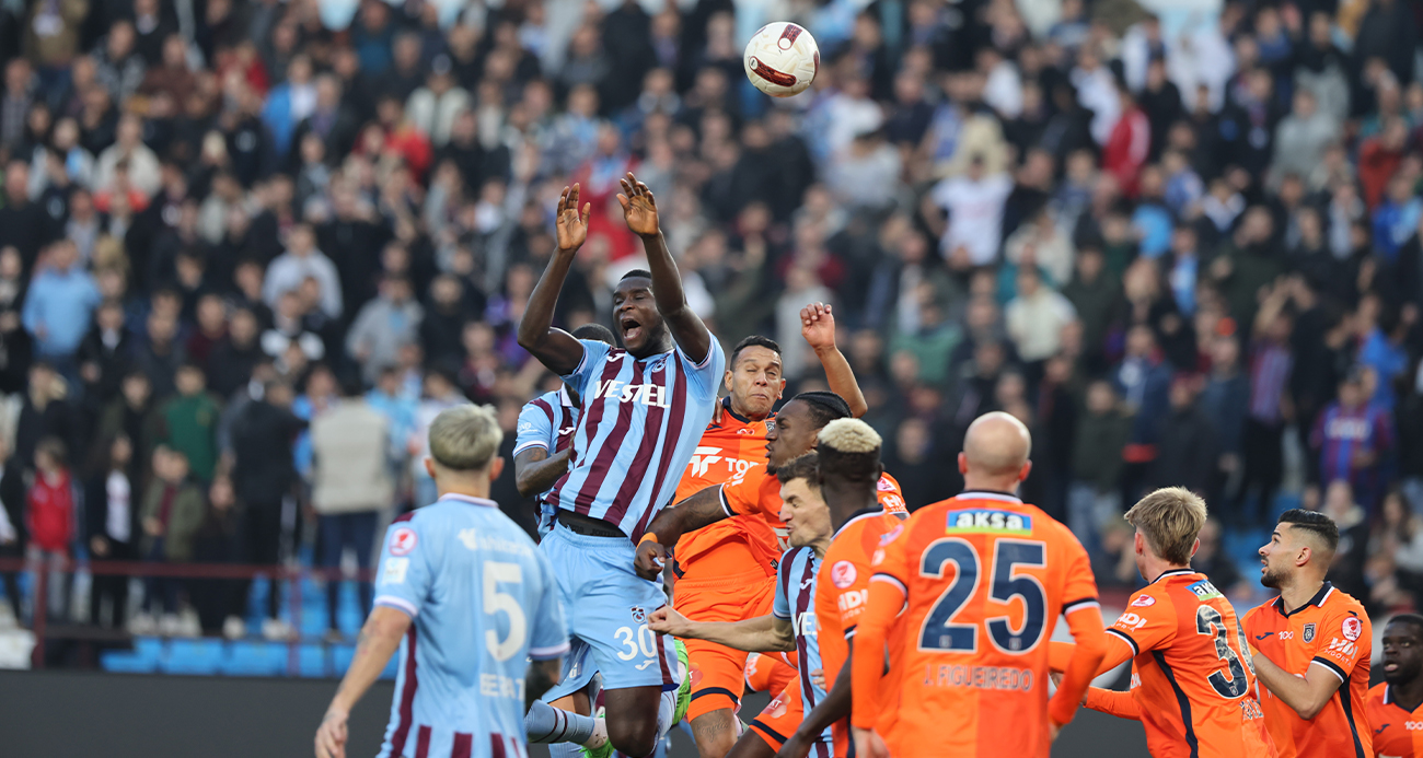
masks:
<svg viewBox="0 0 1423 758"><path fill-rule="evenodd" d="M1168 9L1170 10L1170 9ZM741 46L794 20L785 101ZM515 343L582 183L558 321L610 317L659 198L717 337L822 377L832 303L911 506L979 414L1026 499L1130 584L1123 506L1185 485L1200 560L1281 492L1375 607L1423 592L1417 0L33 0L0 3L0 557L367 567L425 503L423 431L556 387ZM497 484L532 528L534 509ZM250 582L97 577L58 617L245 633ZM28 619L14 576L4 590ZM336 583L330 584L334 609ZM279 593L262 631L283 637ZM21 603L24 600L24 603ZM369 592L361 600L369 604ZM195 620L181 613L192 607ZM334 629L334 610L332 627Z"/></svg>

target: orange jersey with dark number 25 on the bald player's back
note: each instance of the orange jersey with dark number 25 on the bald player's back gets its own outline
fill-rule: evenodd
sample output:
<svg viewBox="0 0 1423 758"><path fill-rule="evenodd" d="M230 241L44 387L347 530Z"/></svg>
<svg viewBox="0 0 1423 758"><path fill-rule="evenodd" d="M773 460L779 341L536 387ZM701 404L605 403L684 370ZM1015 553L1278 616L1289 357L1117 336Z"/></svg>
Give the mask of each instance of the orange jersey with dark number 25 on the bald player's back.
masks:
<svg viewBox="0 0 1423 758"><path fill-rule="evenodd" d="M855 725L872 725L896 758L1046 758L1047 643L1060 614L1097 607L1097 583L1077 538L1013 495L965 492L921 508L885 535L874 572L872 596L894 597L871 600L857 644L874 644L892 623L887 616L904 607L901 623L882 637L901 650L899 660L869 710L898 718L871 724L861 712L878 664L862 677L859 663L871 658L857 656ZM1094 634L1100 619L1094 610ZM1064 708L1063 721L1076 701Z"/></svg>

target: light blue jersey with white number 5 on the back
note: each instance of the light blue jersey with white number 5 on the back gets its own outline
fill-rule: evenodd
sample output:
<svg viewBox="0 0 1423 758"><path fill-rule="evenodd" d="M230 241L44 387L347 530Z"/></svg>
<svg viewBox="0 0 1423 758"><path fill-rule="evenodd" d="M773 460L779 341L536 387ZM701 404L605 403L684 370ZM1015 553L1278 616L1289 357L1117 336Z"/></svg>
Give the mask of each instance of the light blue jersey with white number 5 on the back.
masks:
<svg viewBox="0 0 1423 758"><path fill-rule="evenodd" d="M410 616L380 758L528 755L528 661L568 650L552 569L492 501L445 495L386 532L376 604Z"/></svg>

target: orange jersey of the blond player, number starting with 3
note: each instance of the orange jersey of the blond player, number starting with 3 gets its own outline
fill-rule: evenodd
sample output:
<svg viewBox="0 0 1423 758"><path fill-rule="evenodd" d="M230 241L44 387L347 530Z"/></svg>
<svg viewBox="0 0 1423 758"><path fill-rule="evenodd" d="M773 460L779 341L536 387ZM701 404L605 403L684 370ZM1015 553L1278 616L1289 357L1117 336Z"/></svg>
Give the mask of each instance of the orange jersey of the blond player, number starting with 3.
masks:
<svg viewBox="0 0 1423 758"><path fill-rule="evenodd" d="M1136 654L1131 694L1155 758L1275 755L1235 609L1205 575L1163 573L1107 629Z"/></svg>

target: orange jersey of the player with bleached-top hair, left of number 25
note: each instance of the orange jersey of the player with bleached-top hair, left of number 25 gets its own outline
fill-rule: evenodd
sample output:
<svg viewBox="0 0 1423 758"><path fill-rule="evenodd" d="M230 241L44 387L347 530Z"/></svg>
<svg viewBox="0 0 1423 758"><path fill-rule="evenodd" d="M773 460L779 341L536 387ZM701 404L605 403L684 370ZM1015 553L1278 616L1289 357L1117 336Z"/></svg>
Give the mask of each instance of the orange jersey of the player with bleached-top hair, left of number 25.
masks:
<svg viewBox="0 0 1423 758"><path fill-rule="evenodd" d="M902 498L901 498L902 499ZM884 493L879 498L884 502ZM821 573L815 577L815 624L820 627L820 663L827 690L834 688L840 670L850 657L850 639L869 597L871 562L887 533L904 525L905 515L884 509L857 512L835 530L825 549ZM845 755L850 724L832 724L835 755Z"/></svg>

